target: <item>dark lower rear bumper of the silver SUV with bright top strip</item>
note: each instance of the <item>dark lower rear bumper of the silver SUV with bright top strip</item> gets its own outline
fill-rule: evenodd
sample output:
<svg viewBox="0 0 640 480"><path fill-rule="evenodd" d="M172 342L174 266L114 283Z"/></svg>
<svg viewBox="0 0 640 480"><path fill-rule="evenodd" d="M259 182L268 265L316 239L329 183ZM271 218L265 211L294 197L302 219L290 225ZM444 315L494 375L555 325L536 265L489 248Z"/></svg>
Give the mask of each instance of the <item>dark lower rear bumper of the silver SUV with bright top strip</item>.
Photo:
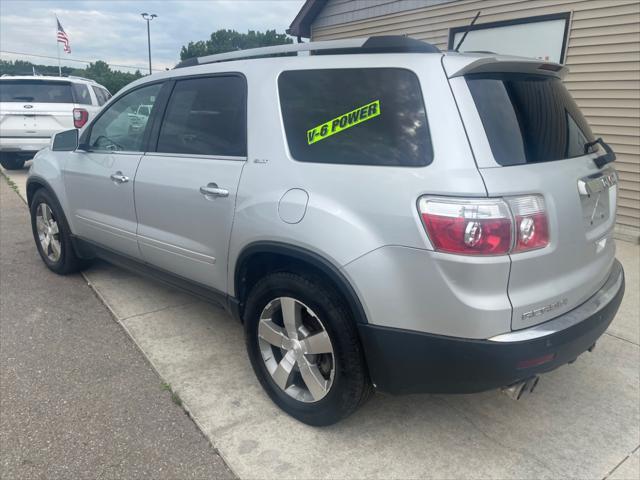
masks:
<svg viewBox="0 0 640 480"><path fill-rule="evenodd" d="M589 300L536 327L473 340L358 325L371 379L388 393L473 393L499 388L571 362L607 329L624 295L614 261Z"/></svg>

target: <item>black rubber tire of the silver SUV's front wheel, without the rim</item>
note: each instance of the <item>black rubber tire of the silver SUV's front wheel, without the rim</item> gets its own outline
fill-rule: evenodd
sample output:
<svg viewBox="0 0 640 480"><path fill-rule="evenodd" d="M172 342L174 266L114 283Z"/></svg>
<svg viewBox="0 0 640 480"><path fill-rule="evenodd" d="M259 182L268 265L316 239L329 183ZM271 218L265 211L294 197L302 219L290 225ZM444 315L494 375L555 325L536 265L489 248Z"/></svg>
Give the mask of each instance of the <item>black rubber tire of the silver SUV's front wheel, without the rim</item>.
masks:
<svg viewBox="0 0 640 480"><path fill-rule="evenodd" d="M44 252L40 239L38 236L38 229L36 226L36 216L38 206L40 204L48 205L53 214L53 219L58 225L57 239L60 243L60 256L56 261L52 261ZM49 270L57 273L58 275L67 275L70 273L76 273L88 265L88 261L79 258L71 243L71 230L69 224L64 216L62 208L58 204L55 197L49 193L46 189L41 188L36 191L31 200L31 231L33 232L33 239L36 242L36 247L40 258L49 268Z"/></svg>

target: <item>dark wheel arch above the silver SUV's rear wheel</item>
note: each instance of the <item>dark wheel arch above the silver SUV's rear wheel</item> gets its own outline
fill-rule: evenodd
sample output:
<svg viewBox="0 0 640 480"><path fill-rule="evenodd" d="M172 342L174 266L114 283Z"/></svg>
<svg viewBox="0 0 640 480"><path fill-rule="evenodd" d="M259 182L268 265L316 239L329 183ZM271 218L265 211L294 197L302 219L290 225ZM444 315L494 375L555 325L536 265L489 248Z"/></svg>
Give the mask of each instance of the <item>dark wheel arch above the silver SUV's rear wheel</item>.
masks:
<svg viewBox="0 0 640 480"><path fill-rule="evenodd" d="M233 275L238 314L242 318L245 299L261 276L285 270L306 270L331 282L343 297L356 323L368 323L360 299L349 280L330 260L306 248L280 242L255 242L238 255Z"/></svg>

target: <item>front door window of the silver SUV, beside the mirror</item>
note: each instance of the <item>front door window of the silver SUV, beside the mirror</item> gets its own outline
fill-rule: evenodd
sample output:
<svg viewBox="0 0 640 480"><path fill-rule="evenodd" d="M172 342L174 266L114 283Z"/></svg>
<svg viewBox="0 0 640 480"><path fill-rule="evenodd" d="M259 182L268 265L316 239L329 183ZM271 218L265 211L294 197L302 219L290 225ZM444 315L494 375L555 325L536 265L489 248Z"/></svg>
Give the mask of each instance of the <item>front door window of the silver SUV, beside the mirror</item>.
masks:
<svg viewBox="0 0 640 480"><path fill-rule="evenodd" d="M89 148L94 151L142 150L147 121L162 84L139 88L119 98L91 127Z"/></svg>

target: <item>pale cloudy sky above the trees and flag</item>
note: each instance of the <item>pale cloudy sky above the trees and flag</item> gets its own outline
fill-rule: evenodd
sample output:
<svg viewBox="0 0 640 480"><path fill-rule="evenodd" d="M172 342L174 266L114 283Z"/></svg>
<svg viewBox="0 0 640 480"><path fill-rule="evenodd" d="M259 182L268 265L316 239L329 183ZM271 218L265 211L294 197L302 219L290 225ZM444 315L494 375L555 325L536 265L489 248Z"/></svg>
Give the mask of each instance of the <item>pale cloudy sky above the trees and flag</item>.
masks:
<svg viewBox="0 0 640 480"><path fill-rule="evenodd" d="M182 45L206 40L222 28L239 32L275 29L284 33L303 3L304 0L0 0L0 58L57 65L58 15L71 45L71 53L66 54L60 44L63 66L86 66L71 59L104 60L117 70L139 68L145 73L147 29L140 14L147 12L158 15L151 22L153 70L164 70L179 62Z"/></svg>

